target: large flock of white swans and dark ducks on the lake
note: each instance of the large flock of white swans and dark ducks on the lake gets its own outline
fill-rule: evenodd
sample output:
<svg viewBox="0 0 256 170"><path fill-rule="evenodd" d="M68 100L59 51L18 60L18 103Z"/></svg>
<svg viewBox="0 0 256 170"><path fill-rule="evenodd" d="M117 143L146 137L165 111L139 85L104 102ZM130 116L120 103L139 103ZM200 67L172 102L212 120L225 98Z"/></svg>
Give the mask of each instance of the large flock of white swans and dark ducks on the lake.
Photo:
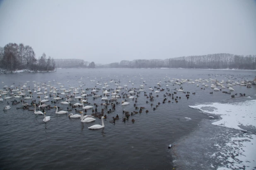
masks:
<svg viewBox="0 0 256 170"><path fill-rule="evenodd" d="M7 102L8 106L5 106L5 111L11 109L10 105L12 105L16 106L16 109L34 111L34 114L36 115L43 115L43 122L51 120L50 116L46 116L46 112L51 109L56 109L56 114L67 114L75 109L75 113L77 114L69 113L69 118L80 118L81 122L85 123L92 122L96 120L95 118L100 118L101 125L93 125L88 127L89 129L100 129L104 127L104 119L109 117L109 113L114 112L118 105L121 105L123 109L123 116L120 119L124 122L129 120L130 116L133 116L137 113L142 113L143 110L145 110L145 113L148 113L149 110L145 109L145 107L137 106L137 102L140 96L144 96L146 98L146 103L151 102L150 105L153 107L152 110L155 111L161 103L164 104L167 101L168 103L178 103L178 99L181 99L181 97L178 97L177 93L184 93L186 99L189 99L190 92L185 92L181 86L185 83L196 84L196 86L200 86L199 88L201 89L209 87L208 84L210 84L210 88L212 88L214 91L222 90L222 92L227 94L231 94L231 92L234 91L232 88L233 86L240 85L250 88L251 85L254 84L254 82L246 80L239 81L235 79L227 80L225 82L224 80L218 81L217 79L213 78L199 78L196 80L177 78L168 78L169 80L166 80L164 78L164 83L159 80L159 82L157 82L154 87L147 88L148 92L146 92L144 89L144 87L147 86L145 81L143 81L139 87L135 88L133 87L134 83L131 81L128 81L127 84L120 86L120 80L110 80L109 84L111 84L111 86L108 85L108 82L103 84L100 82L95 82L94 87L86 88L83 90L85 84L82 83L82 79L83 78L80 78L80 80L78 80L78 83L80 83L79 87L69 86L68 88L65 88L62 83L56 83L56 87L54 87L54 83L52 86L51 81L48 81L47 84L41 82L36 83L35 81L27 81L26 83L16 87L14 85L11 85L10 87L5 85L3 86L3 90L0 90L0 102ZM93 81L95 80L91 81L94 83ZM3 83L4 82L2 82L2 84ZM33 88L31 89L29 85L32 85ZM128 89L128 85L131 86L131 88ZM172 88L170 92L169 86L175 85L179 88ZM223 91L224 89L228 91ZM161 103L158 102L157 105L153 106L154 99L159 97L161 92L163 93L162 95L164 97L163 101L161 101ZM36 94L36 97L34 97L32 94ZM196 92L192 92L192 94L196 95ZM210 94L213 94L213 92L210 92ZM235 95L237 95L237 93L232 95L232 97L235 97ZM245 94L241 93L239 95L245 96ZM2 99L3 96L4 99ZM99 101L97 98L101 98L102 102L100 104L91 104L88 102L88 100L94 102ZM76 101L79 102L75 103ZM130 101L133 101L134 106L134 111L132 112L125 110L125 105L129 105ZM101 107L101 110L98 110L99 106ZM109 106L111 106L111 109L108 109ZM34 107L34 109L30 109L31 107ZM92 114L87 115L87 111L90 109ZM108 113L108 115L104 113L105 111ZM118 119L119 115L117 114L115 117L113 116L109 122L115 123ZM134 123L135 119L132 119L131 121Z"/></svg>

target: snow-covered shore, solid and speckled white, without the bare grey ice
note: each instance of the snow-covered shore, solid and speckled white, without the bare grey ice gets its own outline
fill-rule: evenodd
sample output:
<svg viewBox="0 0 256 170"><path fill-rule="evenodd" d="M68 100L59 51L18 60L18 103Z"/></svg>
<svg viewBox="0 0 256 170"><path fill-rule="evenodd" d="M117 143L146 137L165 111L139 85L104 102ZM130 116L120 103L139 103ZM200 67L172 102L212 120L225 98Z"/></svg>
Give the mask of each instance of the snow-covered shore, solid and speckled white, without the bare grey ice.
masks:
<svg viewBox="0 0 256 170"><path fill-rule="evenodd" d="M213 120L214 122L211 124L235 129L232 133L227 129L226 132L225 130L215 131L208 137L203 137L204 142L208 141L204 143L205 148L211 148L207 149L209 152L206 155L206 157L210 157L206 158L211 163L210 169L254 170L256 168L256 135L253 134L256 130L256 100L228 104L200 104L189 107L203 113L221 115L221 120ZM239 125L250 127L253 132L244 131L244 127L241 128ZM208 130L212 131L212 129ZM237 130L242 130L245 133ZM199 137L202 136L202 133L199 133ZM196 135L193 136L193 138L195 137ZM212 144L209 144L210 142Z"/></svg>

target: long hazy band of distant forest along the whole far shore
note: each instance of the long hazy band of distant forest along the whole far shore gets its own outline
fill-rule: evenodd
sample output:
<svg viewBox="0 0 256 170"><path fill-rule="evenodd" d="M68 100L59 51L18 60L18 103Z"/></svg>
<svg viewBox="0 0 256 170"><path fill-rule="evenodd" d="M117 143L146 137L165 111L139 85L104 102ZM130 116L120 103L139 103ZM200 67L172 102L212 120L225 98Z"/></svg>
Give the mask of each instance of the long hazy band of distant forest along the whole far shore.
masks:
<svg viewBox="0 0 256 170"><path fill-rule="evenodd" d="M256 55L227 53L169 59L122 60L120 63L94 64L82 59L56 59L58 68L203 68L203 69L256 69Z"/></svg>

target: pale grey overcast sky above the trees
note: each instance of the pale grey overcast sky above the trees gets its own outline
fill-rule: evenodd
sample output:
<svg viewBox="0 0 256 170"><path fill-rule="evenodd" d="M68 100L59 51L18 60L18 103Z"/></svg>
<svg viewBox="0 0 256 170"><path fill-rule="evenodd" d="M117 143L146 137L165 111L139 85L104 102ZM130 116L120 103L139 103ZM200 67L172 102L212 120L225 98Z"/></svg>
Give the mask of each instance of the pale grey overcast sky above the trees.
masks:
<svg viewBox="0 0 256 170"><path fill-rule="evenodd" d="M0 46L107 64L256 54L255 0L2 0Z"/></svg>

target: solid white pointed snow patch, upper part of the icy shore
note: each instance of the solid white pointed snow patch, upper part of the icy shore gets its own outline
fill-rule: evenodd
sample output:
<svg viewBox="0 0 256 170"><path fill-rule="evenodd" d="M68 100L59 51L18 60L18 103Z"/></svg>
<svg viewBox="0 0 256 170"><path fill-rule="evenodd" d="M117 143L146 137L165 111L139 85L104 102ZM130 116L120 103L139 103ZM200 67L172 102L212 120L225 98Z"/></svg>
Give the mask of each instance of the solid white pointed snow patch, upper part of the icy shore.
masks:
<svg viewBox="0 0 256 170"><path fill-rule="evenodd" d="M243 130L239 125L256 126L256 100L230 104L200 104L189 107L198 109L203 113L221 115L220 117L222 119L212 123L213 125L225 126L237 130Z"/></svg>

